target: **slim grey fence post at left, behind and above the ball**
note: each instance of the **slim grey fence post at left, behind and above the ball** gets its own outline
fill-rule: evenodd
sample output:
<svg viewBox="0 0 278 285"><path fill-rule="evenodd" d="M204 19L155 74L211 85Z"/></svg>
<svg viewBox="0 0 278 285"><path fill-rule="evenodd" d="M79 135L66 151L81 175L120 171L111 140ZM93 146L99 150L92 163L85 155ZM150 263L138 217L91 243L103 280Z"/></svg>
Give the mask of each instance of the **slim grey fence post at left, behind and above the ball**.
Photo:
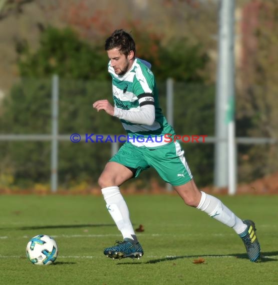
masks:
<svg viewBox="0 0 278 285"><path fill-rule="evenodd" d="M52 144L51 144L51 191L58 189L58 107L59 77L52 77Z"/></svg>

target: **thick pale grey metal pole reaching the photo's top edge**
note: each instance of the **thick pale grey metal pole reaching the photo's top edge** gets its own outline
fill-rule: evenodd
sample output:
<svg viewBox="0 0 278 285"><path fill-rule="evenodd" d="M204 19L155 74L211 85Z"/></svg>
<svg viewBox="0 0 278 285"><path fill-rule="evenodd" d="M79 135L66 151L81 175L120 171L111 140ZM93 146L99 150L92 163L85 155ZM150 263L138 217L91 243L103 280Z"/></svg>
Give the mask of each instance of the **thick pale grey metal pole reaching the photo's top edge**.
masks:
<svg viewBox="0 0 278 285"><path fill-rule="evenodd" d="M233 57L233 24L234 0L219 1L219 32L218 32L218 67L216 92L215 131L215 167L214 184L217 187L228 186L230 169L228 159L227 112L229 97L234 93L234 57ZM233 120L233 118L232 118ZM231 166L231 165L230 165Z"/></svg>

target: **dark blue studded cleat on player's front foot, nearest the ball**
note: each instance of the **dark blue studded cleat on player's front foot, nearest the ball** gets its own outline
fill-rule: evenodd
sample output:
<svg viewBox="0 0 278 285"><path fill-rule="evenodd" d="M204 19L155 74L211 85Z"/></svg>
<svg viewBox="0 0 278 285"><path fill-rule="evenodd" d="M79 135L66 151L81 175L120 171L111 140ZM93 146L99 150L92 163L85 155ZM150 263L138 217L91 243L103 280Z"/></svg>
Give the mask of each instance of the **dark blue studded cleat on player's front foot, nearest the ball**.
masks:
<svg viewBox="0 0 278 285"><path fill-rule="evenodd" d="M111 257L113 259L121 259L125 257L139 259L144 254L141 244L132 238L125 238L124 241L116 242L118 243L117 245L104 249L103 253L107 257Z"/></svg>

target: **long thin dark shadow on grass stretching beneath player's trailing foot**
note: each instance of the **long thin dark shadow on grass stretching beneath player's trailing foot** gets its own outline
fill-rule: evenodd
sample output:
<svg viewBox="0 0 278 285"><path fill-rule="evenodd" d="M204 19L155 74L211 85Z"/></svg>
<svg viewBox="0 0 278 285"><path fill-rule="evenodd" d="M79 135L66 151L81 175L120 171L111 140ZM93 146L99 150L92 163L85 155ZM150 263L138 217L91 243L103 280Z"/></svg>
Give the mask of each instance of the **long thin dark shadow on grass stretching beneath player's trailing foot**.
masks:
<svg viewBox="0 0 278 285"><path fill-rule="evenodd" d="M261 258L260 262L268 262L268 261L278 261L277 259L278 251L268 251L268 252L261 252ZM273 257L271 257L273 256ZM157 258L157 259L152 259L148 260L146 262L122 262L122 263L117 263L117 265L124 265L124 264L154 264L158 262L163 262L163 261L170 261L170 260L176 260L176 259L182 259L182 258L200 258L200 257L235 257L235 258L240 258L240 259L248 259L248 256L246 253L235 253L235 254L205 254L205 255L179 255L179 256L166 256L163 258Z"/></svg>

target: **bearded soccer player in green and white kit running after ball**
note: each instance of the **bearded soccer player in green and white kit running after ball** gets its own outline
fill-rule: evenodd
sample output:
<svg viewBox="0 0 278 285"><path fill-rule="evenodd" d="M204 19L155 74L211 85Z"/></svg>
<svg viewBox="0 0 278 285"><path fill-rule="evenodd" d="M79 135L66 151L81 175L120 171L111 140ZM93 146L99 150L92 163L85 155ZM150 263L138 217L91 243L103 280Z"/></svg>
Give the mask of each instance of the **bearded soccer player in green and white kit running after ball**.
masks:
<svg viewBox="0 0 278 285"><path fill-rule="evenodd" d="M136 57L135 42L131 35L123 29L115 30L106 39L105 50L110 59L108 72L112 77L114 106L103 99L94 102L93 107L118 117L130 139L107 162L98 180L106 207L123 235L123 241L105 248L104 254L113 259L139 258L143 255L119 186L137 177L142 170L154 167L174 187L185 204L232 227L243 240L249 259L258 261L260 246L254 222L241 220L218 198L197 188L178 141L148 139L150 136L163 137L165 134L173 137L175 132L159 107L151 66ZM139 136L141 139L136 139Z"/></svg>

